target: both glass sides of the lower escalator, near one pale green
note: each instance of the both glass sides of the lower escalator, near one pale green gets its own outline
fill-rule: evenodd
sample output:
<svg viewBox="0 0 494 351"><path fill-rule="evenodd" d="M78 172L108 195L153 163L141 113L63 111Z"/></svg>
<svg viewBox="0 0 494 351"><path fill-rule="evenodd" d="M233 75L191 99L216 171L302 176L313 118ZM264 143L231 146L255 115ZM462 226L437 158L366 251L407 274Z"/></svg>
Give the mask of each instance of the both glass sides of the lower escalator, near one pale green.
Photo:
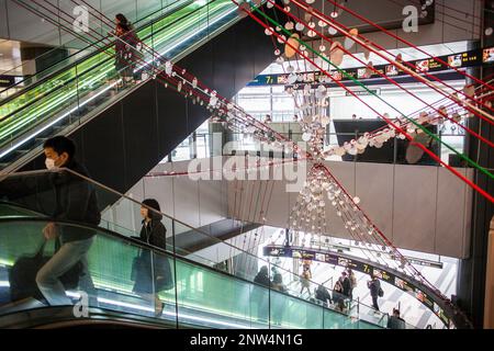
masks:
<svg viewBox="0 0 494 351"><path fill-rule="evenodd" d="M94 191L100 203L110 204L106 211L115 206L127 211L124 212L123 218L113 217L109 220L104 218L103 210L100 227L81 225L80 222L83 219L80 218L78 223L49 219L49 214L57 212L56 191L53 184L59 183L63 179L76 182L78 189ZM388 322L388 315L379 312L374 312L369 318L367 315L370 314L362 312L371 307L356 301L347 301L347 307L341 309L337 304L318 303L312 297L304 298L300 296L299 288L290 287L292 284L289 284L289 282L300 281L297 274L162 213L154 212L161 217L161 223L167 229L166 249L143 244L136 238L138 237L136 227L141 226L141 222L137 220L139 217L132 218L132 213L138 216L142 204L71 171L9 174L0 181L0 196L3 200L0 204L0 213L10 213L4 217L0 216L0 269L4 270L0 276L7 276L0 284L0 287L7 290L0 294L0 297L4 298L0 303L2 305L0 315L22 310L22 306L32 308L32 302L29 305L18 302L21 297L30 297L34 294L33 282L31 287L25 290L18 284L19 276L15 274L20 271L19 262L36 257L35 254L41 252L45 240L43 229L47 223L57 222L57 233L61 240L65 236L74 239L77 236L86 238L93 235L94 239L87 254L89 274L83 275L85 280L79 282L79 287L88 292L89 301L93 304L91 306L94 307L153 317L156 312L153 307L155 299L149 296L158 294L166 306L159 320L176 321L179 326L383 328ZM12 210L9 210L10 212L2 210L2 207L15 208L18 204L21 213L12 215ZM79 205L77 199L72 205ZM40 215L25 211L40 213ZM236 265L235 270L220 268L222 267L218 264L222 263L221 258L207 254L204 250L198 251L187 245L188 240L181 244L180 238L183 235L194 236L195 240L209 241L209 247L216 246L217 251L229 251L231 257L239 253L250 257L257 262L257 267L266 267L263 280L259 279L258 269L250 264ZM45 261L54 252L52 241L54 240L48 240L49 245L44 247L46 252L40 253L41 257L46 258ZM134 259L143 256L145 259L141 260L145 260L147 265L139 268L144 271L137 271ZM165 267L166 260L170 262L175 276L173 284L169 280L160 281L164 274L171 274L168 271L165 272L160 265ZM284 288L281 287L282 284L274 285L271 281L278 274L281 276ZM92 279L96 288L92 288L91 282L87 281L88 276ZM139 276L143 276L144 283ZM317 285L314 282L310 283L312 290ZM85 290L80 286L82 284L90 288ZM144 287L137 286L139 284ZM77 297L76 285L67 285L69 297ZM27 291L29 288L31 290ZM36 297L42 299L43 296L36 295Z"/></svg>

